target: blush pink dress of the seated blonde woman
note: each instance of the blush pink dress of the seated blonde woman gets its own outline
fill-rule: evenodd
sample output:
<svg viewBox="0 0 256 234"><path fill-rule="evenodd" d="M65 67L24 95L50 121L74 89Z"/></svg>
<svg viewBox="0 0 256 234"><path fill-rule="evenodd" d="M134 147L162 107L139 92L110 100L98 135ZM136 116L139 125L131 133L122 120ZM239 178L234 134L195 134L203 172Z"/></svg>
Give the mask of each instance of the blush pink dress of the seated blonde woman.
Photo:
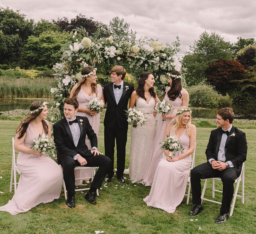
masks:
<svg viewBox="0 0 256 234"><path fill-rule="evenodd" d="M170 135L173 135L172 129ZM189 136L186 129L179 138L181 145L185 148L184 152L189 149ZM156 174L152 183L150 193L143 199L147 206L163 209L168 213L174 213L176 207L182 202L186 185L189 177L189 168L191 166L191 155L176 162L166 160L165 154L162 153L162 159L157 165ZM176 152L175 156L181 155L182 152Z"/></svg>

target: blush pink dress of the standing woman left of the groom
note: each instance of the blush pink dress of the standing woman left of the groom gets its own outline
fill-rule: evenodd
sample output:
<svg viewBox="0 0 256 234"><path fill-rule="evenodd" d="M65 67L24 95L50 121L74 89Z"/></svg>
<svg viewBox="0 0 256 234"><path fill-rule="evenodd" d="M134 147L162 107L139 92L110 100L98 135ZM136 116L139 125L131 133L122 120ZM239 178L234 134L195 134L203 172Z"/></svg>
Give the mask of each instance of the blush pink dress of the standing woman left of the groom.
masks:
<svg viewBox="0 0 256 234"><path fill-rule="evenodd" d="M76 87L77 85L75 85ZM87 108L87 102L91 100L91 98L101 98L102 96L102 87L97 84L97 95L95 93L92 94L92 96L89 96L86 94L82 89L80 89L78 95L77 95L77 101L79 103L80 107ZM97 115L91 116L89 114L86 114L84 112L77 112L78 116L85 116L88 118L90 125L92 126L92 129L94 133L96 133L97 138L99 136L99 126L100 126L100 113ZM75 177L76 178L90 178L91 176L91 169L83 169L83 170L75 170ZM75 185L81 185L83 183L83 180L76 180Z"/></svg>

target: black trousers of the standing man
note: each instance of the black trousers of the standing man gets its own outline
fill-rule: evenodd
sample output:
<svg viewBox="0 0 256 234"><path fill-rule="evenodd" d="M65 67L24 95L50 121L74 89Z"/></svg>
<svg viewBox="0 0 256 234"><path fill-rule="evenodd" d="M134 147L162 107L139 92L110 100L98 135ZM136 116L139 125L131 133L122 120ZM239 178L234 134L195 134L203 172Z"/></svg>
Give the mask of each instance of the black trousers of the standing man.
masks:
<svg viewBox="0 0 256 234"><path fill-rule="evenodd" d="M119 128L115 126L113 128L104 128L104 143L105 143L105 155L111 159L112 165L107 174L114 175L114 148L115 140L117 144L117 177L120 178L124 175L125 167L125 146L127 141L127 128Z"/></svg>

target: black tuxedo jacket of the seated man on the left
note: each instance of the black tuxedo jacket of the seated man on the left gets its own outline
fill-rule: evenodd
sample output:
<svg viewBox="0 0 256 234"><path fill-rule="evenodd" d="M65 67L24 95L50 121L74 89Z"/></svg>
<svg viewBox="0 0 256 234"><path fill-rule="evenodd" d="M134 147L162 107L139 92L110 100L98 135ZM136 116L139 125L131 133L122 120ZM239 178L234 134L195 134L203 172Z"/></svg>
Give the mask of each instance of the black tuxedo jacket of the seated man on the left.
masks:
<svg viewBox="0 0 256 234"><path fill-rule="evenodd" d="M57 148L58 161L65 155L71 157L77 154L80 154L81 156L92 155L85 144L86 134L91 141L91 146L97 147L97 135L94 133L87 117L76 116L76 118L80 127L80 138L77 147L74 145L73 137L66 118L59 120L53 125L53 136ZM83 120L83 124L80 124L80 119Z"/></svg>

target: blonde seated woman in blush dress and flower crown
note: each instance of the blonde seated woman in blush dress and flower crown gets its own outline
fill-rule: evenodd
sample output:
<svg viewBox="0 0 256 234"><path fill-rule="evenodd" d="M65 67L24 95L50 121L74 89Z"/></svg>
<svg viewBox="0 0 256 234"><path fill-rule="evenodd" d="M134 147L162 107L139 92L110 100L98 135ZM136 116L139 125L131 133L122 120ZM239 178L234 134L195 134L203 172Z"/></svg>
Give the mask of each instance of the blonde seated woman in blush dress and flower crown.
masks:
<svg viewBox="0 0 256 234"><path fill-rule="evenodd" d="M150 194L143 200L147 206L174 213L186 192L192 161L191 154L196 144L196 126L191 124L191 111L188 107L180 107L175 119L166 125L165 139L167 135L176 136L185 150L183 153L176 152L172 158L169 158L169 151L164 150L163 158L156 169Z"/></svg>

